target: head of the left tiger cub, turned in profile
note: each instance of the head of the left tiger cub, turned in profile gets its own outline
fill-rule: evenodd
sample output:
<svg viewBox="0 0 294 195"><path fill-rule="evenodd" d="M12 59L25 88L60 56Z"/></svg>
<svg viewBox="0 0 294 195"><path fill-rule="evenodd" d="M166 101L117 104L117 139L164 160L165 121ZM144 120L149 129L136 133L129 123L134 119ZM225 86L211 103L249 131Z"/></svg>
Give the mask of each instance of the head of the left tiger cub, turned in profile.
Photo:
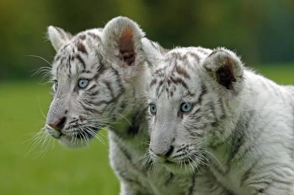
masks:
<svg viewBox="0 0 294 195"><path fill-rule="evenodd" d="M144 36L139 25L126 17L75 36L48 27L57 52L45 126L49 135L67 147L81 147L102 127L133 111L135 97L145 90L150 74L142 50Z"/></svg>

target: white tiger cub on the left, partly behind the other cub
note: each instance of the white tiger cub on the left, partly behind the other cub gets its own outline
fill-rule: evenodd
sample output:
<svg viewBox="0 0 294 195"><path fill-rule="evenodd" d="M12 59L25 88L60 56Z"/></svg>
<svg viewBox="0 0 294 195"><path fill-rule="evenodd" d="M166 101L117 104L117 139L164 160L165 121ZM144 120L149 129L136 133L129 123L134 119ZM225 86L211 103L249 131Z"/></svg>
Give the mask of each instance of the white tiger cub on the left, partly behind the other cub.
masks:
<svg viewBox="0 0 294 195"><path fill-rule="evenodd" d="M111 126L109 158L121 195L228 194L212 173L196 177L164 168L151 172L150 163L144 164L148 145L142 142L149 136L143 108L150 77L144 49L165 49L144 38L136 22L118 17L103 29L75 36L49 26L48 35L57 51L51 71L49 135L67 147L80 147L89 145L103 126Z"/></svg>

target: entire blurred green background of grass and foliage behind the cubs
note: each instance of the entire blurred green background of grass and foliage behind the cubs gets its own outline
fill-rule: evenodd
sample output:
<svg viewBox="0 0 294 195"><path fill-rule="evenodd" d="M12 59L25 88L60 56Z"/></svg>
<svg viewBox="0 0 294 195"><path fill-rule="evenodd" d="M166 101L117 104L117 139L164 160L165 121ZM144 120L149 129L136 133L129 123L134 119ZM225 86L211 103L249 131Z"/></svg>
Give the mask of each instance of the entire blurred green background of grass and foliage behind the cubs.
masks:
<svg viewBox="0 0 294 195"><path fill-rule="evenodd" d="M0 195L118 195L106 138L106 147L94 140L69 150L55 141L52 149L51 140L48 152L42 143L29 152L50 96L30 72L48 64L25 55L52 61L49 25L74 34L119 15L167 48L226 46L275 82L294 84L294 0L1 0Z"/></svg>

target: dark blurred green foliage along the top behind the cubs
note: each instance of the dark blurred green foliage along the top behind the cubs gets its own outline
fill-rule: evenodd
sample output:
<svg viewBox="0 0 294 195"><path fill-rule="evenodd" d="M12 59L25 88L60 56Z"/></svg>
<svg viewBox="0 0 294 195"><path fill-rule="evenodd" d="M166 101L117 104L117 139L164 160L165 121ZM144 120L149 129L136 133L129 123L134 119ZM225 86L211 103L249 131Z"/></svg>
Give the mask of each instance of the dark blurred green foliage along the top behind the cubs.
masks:
<svg viewBox="0 0 294 195"><path fill-rule="evenodd" d="M226 46L247 64L293 61L293 0L3 0L0 80L29 78L54 56L46 27L71 33L127 16L165 47Z"/></svg>

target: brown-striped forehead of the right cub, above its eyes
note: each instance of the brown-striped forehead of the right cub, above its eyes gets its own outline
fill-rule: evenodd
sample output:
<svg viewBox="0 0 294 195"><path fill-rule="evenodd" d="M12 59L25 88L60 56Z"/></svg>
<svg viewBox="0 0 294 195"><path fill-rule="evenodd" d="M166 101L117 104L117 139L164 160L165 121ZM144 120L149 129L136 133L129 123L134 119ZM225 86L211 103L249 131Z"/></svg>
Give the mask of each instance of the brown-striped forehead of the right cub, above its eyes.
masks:
<svg viewBox="0 0 294 195"><path fill-rule="evenodd" d="M152 74L149 88L153 95L169 99L175 95L178 96L175 98L194 95L195 89L202 86L201 81L195 79L198 67L208 55L209 50L197 47L178 48L167 53Z"/></svg>

